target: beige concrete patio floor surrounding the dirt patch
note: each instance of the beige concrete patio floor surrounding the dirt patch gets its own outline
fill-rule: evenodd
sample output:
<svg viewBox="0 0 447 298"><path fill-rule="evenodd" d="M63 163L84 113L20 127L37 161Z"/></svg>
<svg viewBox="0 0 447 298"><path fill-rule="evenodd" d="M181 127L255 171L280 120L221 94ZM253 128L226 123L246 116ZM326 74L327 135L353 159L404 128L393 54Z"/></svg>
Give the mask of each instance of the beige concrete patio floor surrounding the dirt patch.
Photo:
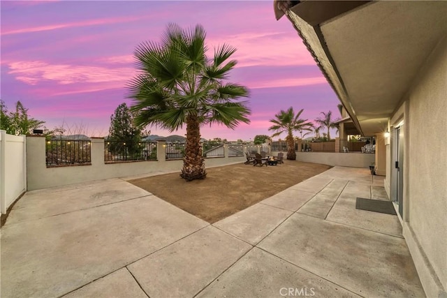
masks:
<svg viewBox="0 0 447 298"><path fill-rule="evenodd" d="M1 297L425 297L383 178L333 167L217 223L122 179L30 191Z"/></svg>

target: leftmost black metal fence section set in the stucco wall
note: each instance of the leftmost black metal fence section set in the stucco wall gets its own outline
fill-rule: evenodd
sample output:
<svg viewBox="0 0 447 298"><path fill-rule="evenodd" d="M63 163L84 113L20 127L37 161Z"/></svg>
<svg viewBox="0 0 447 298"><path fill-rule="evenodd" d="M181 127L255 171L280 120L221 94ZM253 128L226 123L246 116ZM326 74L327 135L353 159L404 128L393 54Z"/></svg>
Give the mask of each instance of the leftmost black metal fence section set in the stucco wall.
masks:
<svg viewBox="0 0 447 298"><path fill-rule="evenodd" d="M47 140L45 147L47 167L59 165L90 165L90 140Z"/></svg>

